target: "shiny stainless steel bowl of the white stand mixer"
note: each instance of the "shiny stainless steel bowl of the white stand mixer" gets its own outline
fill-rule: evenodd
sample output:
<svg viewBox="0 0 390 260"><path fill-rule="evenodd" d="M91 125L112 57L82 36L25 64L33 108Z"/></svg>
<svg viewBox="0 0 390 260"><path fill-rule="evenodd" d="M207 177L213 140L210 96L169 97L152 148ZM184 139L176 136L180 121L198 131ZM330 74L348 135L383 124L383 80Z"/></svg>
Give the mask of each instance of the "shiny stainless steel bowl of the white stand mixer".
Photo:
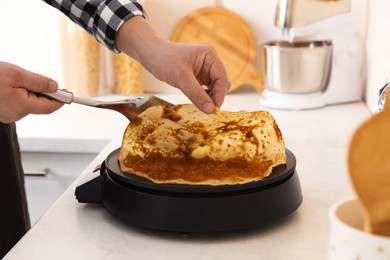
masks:
<svg viewBox="0 0 390 260"><path fill-rule="evenodd" d="M260 46L264 87L273 92L324 91L332 67L331 41L274 41Z"/></svg>

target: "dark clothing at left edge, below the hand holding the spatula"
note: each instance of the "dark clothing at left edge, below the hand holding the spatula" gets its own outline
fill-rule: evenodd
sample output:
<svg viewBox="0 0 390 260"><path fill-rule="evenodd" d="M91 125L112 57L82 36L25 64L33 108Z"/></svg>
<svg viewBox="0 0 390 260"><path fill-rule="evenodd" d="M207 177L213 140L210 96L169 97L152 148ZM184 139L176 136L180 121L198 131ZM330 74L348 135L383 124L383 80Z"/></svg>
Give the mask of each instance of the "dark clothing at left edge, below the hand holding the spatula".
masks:
<svg viewBox="0 0 390 260"><path fill-rule="evenodd" d="M0 259L30 228L14 123L0 123Z"/></svg>

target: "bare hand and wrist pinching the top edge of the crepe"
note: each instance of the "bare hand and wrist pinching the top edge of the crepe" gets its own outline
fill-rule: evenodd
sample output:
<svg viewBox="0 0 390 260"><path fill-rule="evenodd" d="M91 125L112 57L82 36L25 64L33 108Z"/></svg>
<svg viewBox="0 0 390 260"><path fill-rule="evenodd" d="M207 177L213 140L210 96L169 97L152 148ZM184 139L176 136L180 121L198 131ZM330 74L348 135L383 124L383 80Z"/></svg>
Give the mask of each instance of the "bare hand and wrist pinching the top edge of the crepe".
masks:
<svg viewBox="0 0 390 260"><path fill-rule="evenodd" d="M142 17L133 17L120 27L116 46L156 78L179 88L203 112L212 113L222 105L230 81L212 47L166 41Z"/></svg>

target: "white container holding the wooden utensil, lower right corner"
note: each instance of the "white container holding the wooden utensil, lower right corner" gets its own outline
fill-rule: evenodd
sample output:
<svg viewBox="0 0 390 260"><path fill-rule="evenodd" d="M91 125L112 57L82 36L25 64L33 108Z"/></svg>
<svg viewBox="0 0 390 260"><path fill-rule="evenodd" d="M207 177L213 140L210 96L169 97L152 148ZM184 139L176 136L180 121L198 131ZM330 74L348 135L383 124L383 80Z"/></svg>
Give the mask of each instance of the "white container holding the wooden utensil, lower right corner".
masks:
<svg viewBox="0 0 390 260"><path fill-rule="evenodd" d="M390 237L363 231L363 209L356 197L332 205L329 219L329 259L390 259Z"/></svg>

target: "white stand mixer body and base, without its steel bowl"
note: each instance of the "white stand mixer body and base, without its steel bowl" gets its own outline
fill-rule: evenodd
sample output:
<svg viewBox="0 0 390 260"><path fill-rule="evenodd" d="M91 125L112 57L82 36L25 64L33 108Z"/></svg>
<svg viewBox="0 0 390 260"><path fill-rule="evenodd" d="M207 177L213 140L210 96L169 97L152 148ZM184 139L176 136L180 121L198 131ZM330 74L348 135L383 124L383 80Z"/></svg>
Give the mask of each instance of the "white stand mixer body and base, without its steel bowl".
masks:
<svg viewBox="0 0 390 260"><path fill-rule="evenodd" d="M275 91L265 79L260 98L263 106L299 110L361 100L361 63L351 0L279 0L275 26L285 42L330 41L333 50L329 80L321 90L300 93L298 85L294 92L283 88Z"/></svg>

